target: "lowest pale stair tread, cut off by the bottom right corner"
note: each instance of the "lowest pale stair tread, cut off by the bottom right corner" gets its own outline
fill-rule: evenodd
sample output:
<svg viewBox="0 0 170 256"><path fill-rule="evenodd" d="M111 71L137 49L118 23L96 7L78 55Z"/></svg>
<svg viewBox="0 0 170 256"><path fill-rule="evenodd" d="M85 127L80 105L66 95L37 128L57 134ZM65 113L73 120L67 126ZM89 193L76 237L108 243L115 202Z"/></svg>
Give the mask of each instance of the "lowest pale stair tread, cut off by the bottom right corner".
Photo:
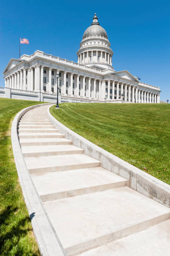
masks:
<svg viewBox="0 0 170 256"><path fill-rule="evenodd" d="M168 256L170 220L141 230L117 241L93 248L77 256Z"/></svg>

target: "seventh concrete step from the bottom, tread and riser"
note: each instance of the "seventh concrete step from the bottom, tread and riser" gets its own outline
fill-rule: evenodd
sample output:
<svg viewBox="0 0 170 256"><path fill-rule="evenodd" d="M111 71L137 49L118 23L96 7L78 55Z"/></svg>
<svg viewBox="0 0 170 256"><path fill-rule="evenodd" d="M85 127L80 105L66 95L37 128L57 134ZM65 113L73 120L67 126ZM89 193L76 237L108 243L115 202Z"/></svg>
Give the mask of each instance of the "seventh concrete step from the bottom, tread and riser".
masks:
<svg viewBox="0 0 170 256"><path fill-rule="evenodd" d="M63 138L62 133L18 133L19 138Z"/></svg>

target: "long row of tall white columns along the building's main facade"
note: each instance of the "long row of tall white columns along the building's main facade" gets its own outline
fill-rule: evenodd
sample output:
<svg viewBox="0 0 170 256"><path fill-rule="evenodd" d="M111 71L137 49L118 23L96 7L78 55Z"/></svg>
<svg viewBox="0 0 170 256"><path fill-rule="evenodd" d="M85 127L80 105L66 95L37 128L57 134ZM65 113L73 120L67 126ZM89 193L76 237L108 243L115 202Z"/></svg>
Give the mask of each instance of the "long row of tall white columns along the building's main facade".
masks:
<svg viewBox="0 0 170 256"><path fill-rule="evenodd" d="M48 73L45 72L44 74L44 69ZM108 101L121 99L124 102L132 103L160 103L159 93L141 89L140 86L134 84L111 79L97 79L40 64L36 64L33 67L23 67L8 77L5 77L5 87L36 92L39 90L44 92L45 90L49 93L56 93L57 73L62 74L58 79L58 86L59 92L63 96L69 95L71 97L83 97L94 100L105 99ZM46 79L44 80L44 78ZM47 90L46 84L48 84Z"/></svg>

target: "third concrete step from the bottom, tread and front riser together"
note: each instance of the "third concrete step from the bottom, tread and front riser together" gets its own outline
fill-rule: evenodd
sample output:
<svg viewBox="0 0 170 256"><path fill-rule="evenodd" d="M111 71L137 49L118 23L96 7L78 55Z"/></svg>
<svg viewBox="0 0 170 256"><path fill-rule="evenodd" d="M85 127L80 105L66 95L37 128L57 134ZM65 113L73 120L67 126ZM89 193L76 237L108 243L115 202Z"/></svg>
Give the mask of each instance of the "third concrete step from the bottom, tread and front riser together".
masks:
<svg viewBox="0 0 170 256"><path fill-rule="evenodd" d="M102 167L32 175L42 201L58 200L127 186L127 180Z"/></svg>

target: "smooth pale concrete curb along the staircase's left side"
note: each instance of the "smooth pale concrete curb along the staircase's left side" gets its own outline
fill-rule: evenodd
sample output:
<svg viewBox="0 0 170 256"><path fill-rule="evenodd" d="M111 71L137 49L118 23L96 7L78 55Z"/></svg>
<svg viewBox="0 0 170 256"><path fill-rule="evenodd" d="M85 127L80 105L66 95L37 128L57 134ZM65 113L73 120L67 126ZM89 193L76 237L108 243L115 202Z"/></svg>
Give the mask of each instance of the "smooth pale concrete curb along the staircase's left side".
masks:
<svg viewBox="0 0 170 256"><path fill-rule="evenodd" d="M64 251L63 246L61 245L61 242L48 219L48 215L46 214L43 204L41 203L41 199L25 165L17 133L18 121L25 112L33 108L51 104L53 103L33 105L28 108L24 108L15 115L11 128L11 140L20 185L40 253L43 256L66 256L66 252Z"/></svg>

